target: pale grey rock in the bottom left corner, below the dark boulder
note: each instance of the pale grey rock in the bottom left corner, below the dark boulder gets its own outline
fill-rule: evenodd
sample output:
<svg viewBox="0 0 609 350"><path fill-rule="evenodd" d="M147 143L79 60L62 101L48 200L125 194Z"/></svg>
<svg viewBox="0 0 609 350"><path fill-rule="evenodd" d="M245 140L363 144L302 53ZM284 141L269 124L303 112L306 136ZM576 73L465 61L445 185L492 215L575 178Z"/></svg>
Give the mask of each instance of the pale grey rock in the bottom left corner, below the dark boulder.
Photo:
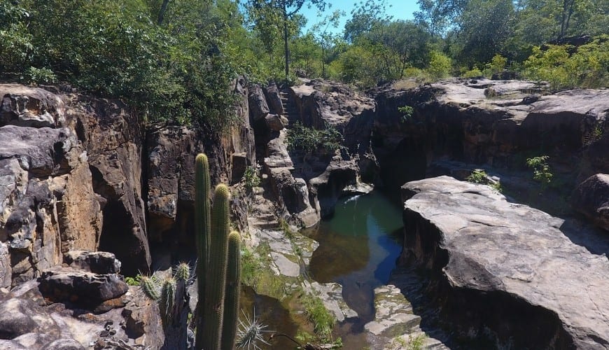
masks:
<svg viewBox="0 0 609 350"><path fill-rule="evenodd" d="M136 288L123 294L123 304L95 314L92 309L72 308L71 302L52 303L36 280L22 283L0 293L0 348L160 349L165 336L158 303Z"/></svg>

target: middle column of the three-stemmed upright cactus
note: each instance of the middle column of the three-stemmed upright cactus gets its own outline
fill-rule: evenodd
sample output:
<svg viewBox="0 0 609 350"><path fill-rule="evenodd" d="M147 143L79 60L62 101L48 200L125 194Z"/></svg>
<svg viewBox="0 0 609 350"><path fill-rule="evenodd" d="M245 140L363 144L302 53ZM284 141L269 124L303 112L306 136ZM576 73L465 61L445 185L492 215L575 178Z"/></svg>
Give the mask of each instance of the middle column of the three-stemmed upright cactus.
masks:
<svg viewBox="0 0 609 350"><path fill-rule="evenodd" d="M229 191L226 185L216 186L211 207L211 242L209 245L209 269L205 284L203 322L203 349L220 349L224 288L226 282L226 253L229 230ZM197 330L198 331L198 330Z"/></svg>

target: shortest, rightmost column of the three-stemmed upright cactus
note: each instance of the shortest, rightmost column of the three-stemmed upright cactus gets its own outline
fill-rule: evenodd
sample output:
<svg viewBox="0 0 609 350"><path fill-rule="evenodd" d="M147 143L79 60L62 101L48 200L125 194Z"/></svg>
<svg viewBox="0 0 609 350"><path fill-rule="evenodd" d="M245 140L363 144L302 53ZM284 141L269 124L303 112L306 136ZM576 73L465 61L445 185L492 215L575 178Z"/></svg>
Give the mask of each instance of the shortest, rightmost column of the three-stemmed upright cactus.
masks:
<svg viewBox="0 0 609 350"><path fill-rule="evenodd" d="M222 325L222 350L235 346L239 322L239 279L241 279L241 235L233 231L228 235L228 262L224 295L224 320Z"/></svg>

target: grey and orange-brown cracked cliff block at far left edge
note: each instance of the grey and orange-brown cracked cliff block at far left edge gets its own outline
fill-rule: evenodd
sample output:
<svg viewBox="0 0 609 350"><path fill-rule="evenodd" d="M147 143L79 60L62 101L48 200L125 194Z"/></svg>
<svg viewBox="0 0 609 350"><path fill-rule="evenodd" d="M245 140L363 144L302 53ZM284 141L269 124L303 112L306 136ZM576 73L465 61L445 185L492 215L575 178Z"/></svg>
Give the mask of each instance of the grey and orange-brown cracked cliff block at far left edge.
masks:
<svg viewBox="0 0 609 350"><path fill-rule="evenodd" d="M0 183L1 286L34 278L73 248L97 250L102 216L72 130L0 127Z"/></svg>

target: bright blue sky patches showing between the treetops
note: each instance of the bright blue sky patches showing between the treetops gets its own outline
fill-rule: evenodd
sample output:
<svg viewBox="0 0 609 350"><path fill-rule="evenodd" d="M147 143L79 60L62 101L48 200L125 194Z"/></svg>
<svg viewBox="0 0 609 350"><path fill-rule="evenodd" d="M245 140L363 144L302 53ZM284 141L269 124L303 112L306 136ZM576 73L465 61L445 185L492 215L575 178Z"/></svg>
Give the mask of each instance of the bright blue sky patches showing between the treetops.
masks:
<svg viewBox="0 0 609 350"><path fill-rule="evenodd" d="M329 15L334 12L334 10L343 10L346 14L341 19L341 24L339 25L336 31L341 32L344 29L344 22L351 18L351 10L360 2L360 0L328 0L328 3L332 4L330 9L325 10L324 15ZM393 16L395 20L412 20L412 13L416 10L419 10L419 5L416 3L416 0L387 0L388 5L391 7L387 8L388 15ZM303 31L307 31L312 25L316 22L319 22L322 18L317 17L317 9L316 8L307 8L305 4L302 6L300 13L307 18L307 27L304 28Z"/></svg>

